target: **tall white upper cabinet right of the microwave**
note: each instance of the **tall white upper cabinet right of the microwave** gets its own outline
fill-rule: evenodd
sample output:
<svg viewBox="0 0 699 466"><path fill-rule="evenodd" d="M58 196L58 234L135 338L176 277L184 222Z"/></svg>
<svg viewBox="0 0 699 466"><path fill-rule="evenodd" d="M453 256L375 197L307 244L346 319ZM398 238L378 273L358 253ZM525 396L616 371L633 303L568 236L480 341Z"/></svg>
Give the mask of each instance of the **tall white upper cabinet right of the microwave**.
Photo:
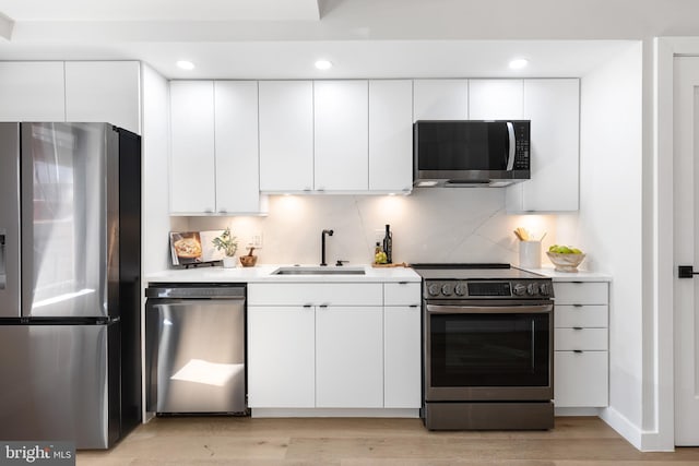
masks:
<svg viewBox="0 0 699 466"><path fill-rule="evenodd" d="M507 211L577 211L580 153L579 80L524 80L523 118L532 121L532 178L507 188Z"/></svg>

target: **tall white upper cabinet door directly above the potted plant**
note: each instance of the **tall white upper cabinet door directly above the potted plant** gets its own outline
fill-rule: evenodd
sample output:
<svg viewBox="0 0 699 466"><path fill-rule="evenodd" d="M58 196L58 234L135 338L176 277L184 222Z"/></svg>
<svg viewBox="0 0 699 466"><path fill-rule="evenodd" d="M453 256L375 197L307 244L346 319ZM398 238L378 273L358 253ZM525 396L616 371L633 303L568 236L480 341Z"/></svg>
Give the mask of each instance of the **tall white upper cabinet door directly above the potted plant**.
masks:
<svg viewBox="0 0 699 466"><path fill-rule="evenodd" d="M260 212L257 81L214 82L216 212Z"/></svg>

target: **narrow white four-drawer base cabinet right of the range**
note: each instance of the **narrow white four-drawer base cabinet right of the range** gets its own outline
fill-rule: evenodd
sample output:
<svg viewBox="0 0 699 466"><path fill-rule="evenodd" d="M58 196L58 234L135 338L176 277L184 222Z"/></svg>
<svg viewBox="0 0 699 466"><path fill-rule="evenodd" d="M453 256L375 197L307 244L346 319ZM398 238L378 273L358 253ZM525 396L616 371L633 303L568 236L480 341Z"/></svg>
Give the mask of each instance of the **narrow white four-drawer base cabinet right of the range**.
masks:
<svg viewBox="0 0 699 466"><path fill-rule="evenodd" d="M554 282L554 403L608 405L608 283Z"/></svg>

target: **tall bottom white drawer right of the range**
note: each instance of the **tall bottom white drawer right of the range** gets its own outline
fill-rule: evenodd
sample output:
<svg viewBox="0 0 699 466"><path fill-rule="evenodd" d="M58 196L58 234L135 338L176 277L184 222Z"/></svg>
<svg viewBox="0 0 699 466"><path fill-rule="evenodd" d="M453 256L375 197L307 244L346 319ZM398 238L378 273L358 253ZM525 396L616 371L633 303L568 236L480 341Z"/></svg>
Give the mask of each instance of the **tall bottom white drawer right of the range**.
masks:
<svg viewBox="0 0 699 466"><path fill-rule="evenodd" d="M608 404L607 351L555 351L554 405L601 407Z"/></svg>

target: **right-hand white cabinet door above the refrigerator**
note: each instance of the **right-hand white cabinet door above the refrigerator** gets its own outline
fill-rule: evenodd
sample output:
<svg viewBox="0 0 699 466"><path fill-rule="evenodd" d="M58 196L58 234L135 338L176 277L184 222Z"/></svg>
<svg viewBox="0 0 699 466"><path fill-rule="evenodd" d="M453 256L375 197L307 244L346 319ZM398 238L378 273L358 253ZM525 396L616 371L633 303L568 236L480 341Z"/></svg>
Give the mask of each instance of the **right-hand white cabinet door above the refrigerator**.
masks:
<svg viewBox="0 0 699 466"><path fill-rule="evenodd" d="M66 120L106 121L140 134L140 63L67 61Z"/></svg>

